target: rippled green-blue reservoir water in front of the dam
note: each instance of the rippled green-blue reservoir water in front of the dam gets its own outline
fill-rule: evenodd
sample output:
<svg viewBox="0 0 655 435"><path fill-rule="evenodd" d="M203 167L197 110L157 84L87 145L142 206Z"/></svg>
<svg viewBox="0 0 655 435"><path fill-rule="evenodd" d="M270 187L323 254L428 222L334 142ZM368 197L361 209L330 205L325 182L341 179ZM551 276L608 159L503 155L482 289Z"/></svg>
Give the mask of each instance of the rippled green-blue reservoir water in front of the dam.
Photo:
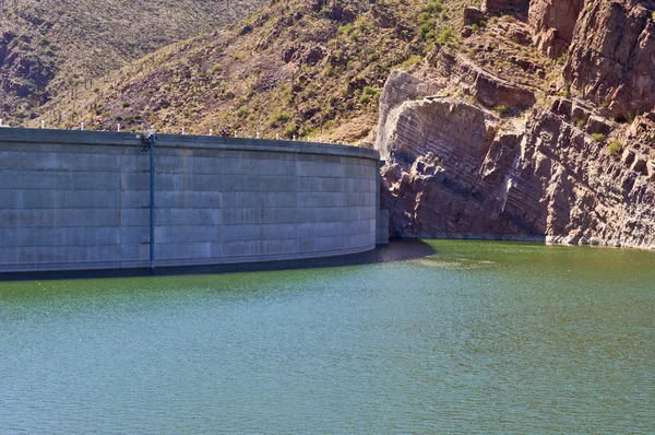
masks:
<svg viewBox="0 0 655 435"><path fill-rule="evenodd" d="M655 252L425 244L0 283L0 433L655 433Z"/></svg>

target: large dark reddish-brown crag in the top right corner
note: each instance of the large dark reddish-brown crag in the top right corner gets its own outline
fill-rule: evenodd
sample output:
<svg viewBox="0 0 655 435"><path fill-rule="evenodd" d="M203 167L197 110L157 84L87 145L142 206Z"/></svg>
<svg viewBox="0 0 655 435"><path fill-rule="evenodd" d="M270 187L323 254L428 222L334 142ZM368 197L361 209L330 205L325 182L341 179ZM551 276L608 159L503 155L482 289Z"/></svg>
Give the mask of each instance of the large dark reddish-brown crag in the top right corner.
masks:
<svg viewBox="0 0 655 435"><path fill-rule="evenodd" d="M606 117L629 119L655 106L655 1L590 3L575 27L565 78Z"/></svg>

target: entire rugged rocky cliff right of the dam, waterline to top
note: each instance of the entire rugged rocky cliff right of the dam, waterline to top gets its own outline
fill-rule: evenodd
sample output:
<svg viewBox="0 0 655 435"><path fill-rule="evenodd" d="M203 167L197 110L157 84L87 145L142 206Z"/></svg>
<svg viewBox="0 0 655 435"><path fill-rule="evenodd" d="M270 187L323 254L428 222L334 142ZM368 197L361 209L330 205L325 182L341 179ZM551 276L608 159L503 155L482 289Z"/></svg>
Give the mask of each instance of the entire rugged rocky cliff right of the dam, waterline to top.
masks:
<svg viewBox="0 0 655 435"><path fill-rule="evenodd" d="M394 71L392 235L655 247L655 2L486 0Z"/></svg>

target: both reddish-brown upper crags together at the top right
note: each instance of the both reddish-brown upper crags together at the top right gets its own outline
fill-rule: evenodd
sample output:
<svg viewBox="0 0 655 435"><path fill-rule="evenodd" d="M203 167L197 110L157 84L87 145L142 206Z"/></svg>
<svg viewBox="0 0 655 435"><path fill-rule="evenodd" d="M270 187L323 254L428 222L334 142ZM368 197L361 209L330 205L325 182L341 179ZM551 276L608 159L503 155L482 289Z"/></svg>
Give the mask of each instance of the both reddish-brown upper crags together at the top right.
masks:
<svg viewBox="0 0 655 435"><path fill-rule="evenodd" d="M655 106L654 0L531 0L537 48L568 55L564 78L603 116L632 119Z"/></svg>

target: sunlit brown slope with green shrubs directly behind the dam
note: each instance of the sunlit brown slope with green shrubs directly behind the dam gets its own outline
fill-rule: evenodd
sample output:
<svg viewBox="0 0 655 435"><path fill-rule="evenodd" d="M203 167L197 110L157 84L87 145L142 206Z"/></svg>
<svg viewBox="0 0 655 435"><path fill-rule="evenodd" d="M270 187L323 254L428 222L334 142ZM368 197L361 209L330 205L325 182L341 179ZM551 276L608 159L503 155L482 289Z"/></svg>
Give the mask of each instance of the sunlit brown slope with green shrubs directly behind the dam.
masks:
<svg viewBox="0 0 655 435"><path fill-rule="evenodd" d="M25 124L357 143L377 125L391 70L420 61L436 23L458 26L467 3L270 0L229 30L59 95Z"/></svg>

